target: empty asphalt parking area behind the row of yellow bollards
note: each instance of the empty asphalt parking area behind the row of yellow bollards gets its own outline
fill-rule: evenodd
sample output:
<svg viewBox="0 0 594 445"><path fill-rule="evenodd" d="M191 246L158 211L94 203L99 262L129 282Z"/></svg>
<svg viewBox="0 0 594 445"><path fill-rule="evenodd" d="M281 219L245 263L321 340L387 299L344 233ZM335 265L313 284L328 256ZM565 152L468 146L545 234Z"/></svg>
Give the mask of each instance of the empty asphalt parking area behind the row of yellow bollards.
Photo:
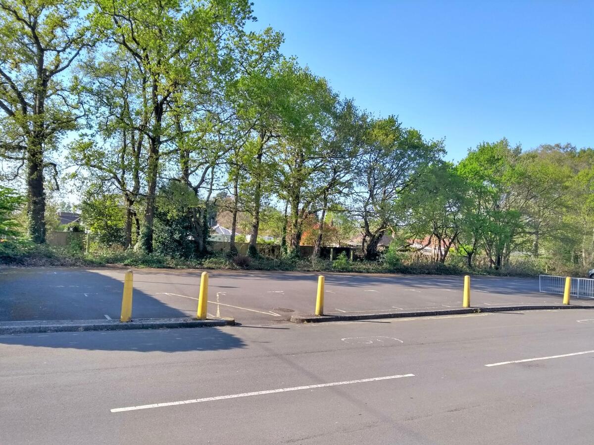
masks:
<svg viewBox="0 0 594 445"><path fill-rule="evenodd" d="M0 269L0 322L118 319L125 269ZM201 271L134 271L135 318L188 317L197 309ZM315 308L317 274L209 271L209 316L276 323ZM325 313L447 309L462 304L463 278L434 275L325 274ZM538 293L538 278L476 276L471 304L560 304ZM588 300L572 300L589 304Z"/></svg>

